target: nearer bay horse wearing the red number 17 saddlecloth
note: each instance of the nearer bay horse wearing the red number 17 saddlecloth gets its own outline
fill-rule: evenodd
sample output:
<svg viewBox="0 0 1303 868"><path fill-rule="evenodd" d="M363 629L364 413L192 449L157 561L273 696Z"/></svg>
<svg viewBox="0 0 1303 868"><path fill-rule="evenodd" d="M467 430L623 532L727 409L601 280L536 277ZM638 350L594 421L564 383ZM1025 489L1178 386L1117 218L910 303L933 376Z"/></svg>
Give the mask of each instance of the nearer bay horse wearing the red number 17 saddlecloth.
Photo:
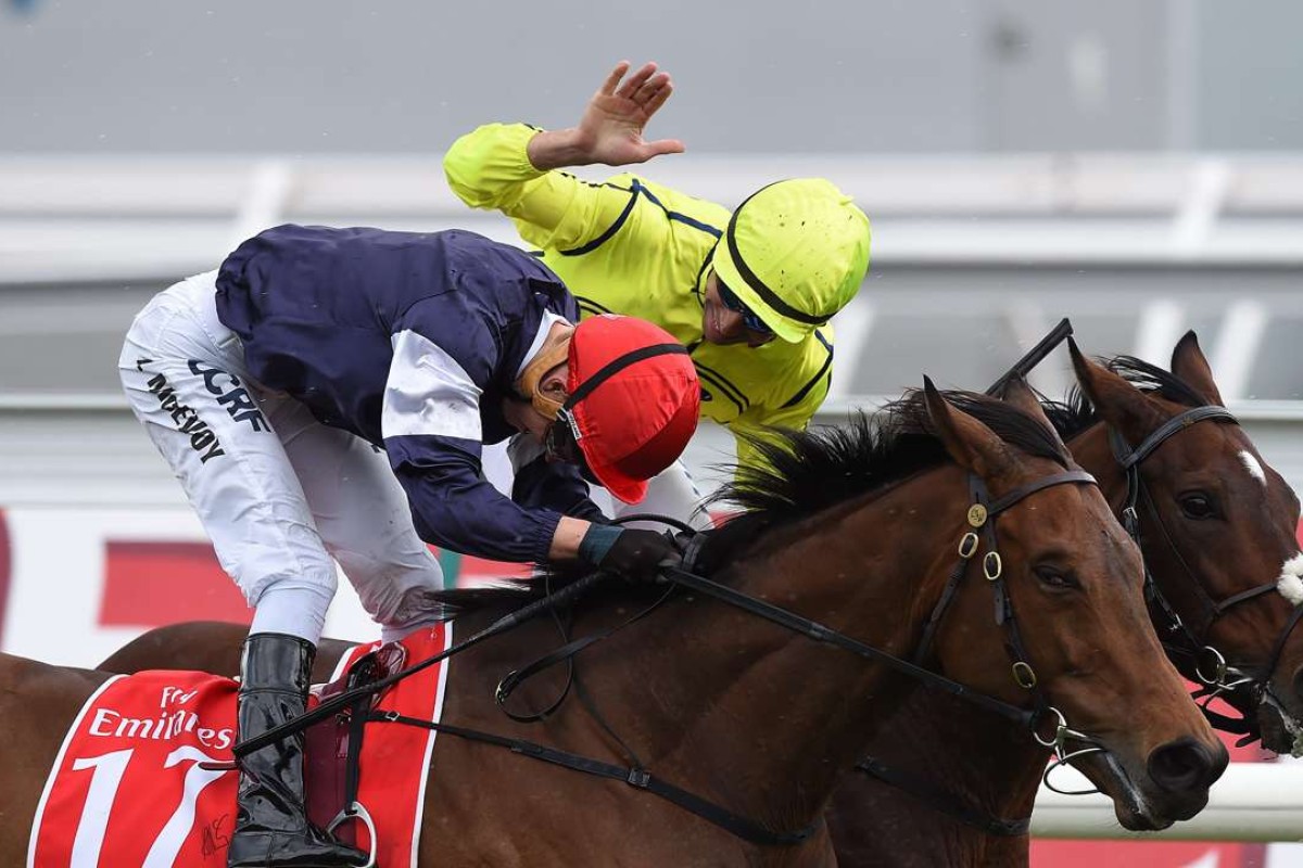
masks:
<svg viewBox="0 0 1303 868"><path fill-rule="evenodd" d="M1197 812L1227 756L1149 626L1135 544L1074 472L1038 405L950 398L963 409L926 384L878 428L861 420L787 435L775 470L752 474L739 491L751 509L708 544L705 562L727 588L813 618L821 631L792 632L704 593L609 587L573 610L573 632L668 601L584 655L582 703L524 725L494 701L503 673L555 645L555 625L526 623L450 669L450 724L650 769L753 826L808 837L747 841L638 786L444 737L421 864L835 864L823 806L915 687L895 668L844 653L846 643L906 657L943 595L949 605L930 635L950 683L1006 708L1053 704L1106 748L1108 761L1084 770L1114 796L1123 825L1162 828ZM969 509L975 497L989 515ZM967 569L956 566L956 544L972 556ZM457 630L473 632L532 591L537 583L443 596ZM830 634L846 643L809 638ZM0 720L10 733L0 750L48 766L60 724L95 678L0 660ZM1053 730L1053 716L1045 720ZM13 757L0 759L12 768ZM39 789L38 774L0 790L0 811L17 820L17 829L5 824L0 855L25 846L16 838Z"/></svg>

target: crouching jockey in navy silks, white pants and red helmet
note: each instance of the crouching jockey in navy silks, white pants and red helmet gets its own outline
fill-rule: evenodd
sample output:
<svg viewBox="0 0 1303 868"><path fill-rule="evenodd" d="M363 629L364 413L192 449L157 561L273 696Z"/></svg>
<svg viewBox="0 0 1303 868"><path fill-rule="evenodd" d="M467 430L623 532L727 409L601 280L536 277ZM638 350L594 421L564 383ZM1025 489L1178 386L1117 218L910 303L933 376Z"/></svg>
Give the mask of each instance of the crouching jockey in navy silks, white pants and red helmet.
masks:
<svg viewBox="0 0 1303 868"><path fill-rule="evenodd" d="M674 556L605 523L588 483L637 501L679 457L692 362L650 323L577 314L546 265L473 233L285 225L136 318L132 409L254 608L241 740L304 712L336 562L397 639L437 618L427 543L632 578ZM481 450L511 437L537 459L507 497ZM238 793L229 865L365 861L309 824L301 734L244 757Z"/></svg>

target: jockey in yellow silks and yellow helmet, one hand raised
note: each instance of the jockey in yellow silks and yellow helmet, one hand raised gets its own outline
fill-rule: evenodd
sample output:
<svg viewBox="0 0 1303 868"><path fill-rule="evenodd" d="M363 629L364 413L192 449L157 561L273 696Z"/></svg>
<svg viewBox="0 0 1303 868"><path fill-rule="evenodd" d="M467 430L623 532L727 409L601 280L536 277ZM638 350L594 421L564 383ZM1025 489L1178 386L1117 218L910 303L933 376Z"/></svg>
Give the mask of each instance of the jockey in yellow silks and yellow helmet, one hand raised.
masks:
<svg viewBox="0 0 1303 868"><path fill-rule="evenodd" d="M560 170L683 151L642 138L670 77L655 64L628 70L612 70L576 128L489 124L461 137L444 156L448 183L466 204L511 217L581 315L638 316L681 341L701 379L701 415L737 435L739 463L753 463L745 435L804 428L827 394L829 320L864 281L869 220L823 178L778 181L730 213L636 174L590 183ZM679 463L653 480L641 509L684 518L694 493Z"/></svg>

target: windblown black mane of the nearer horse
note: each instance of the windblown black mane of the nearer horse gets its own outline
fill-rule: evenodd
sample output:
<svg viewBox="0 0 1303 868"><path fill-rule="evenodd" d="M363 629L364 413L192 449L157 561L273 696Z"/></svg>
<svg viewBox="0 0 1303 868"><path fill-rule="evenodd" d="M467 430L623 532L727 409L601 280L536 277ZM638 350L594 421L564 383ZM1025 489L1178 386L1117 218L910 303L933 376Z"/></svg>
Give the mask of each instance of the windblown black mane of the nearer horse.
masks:
<svg viewBox="0 0 1303 868"><path fill-rule="evenodd" d="M1068 455L1055 437L1031 415L984 394L946 392L945 396L1010 445L1067 466ZM734 481L710 498L710 502L727 501L741 511L710 534L694 565L708 575L722 570L764 539L765 531L808 518L947 461L920 390L907 392L886 405L876 419L857 413L844 427L808 431L773 428L769 436L753 437L752 442L762 461L739 467ZM524 605L585 574L586 570L573 566L549 567L532 579L442 591L430 597L442 617L452 618L468 612ZM614 587L614 592L624 595L640 592L620 582L605 587ZM646 593L644 590L642 595Z"/></svg>

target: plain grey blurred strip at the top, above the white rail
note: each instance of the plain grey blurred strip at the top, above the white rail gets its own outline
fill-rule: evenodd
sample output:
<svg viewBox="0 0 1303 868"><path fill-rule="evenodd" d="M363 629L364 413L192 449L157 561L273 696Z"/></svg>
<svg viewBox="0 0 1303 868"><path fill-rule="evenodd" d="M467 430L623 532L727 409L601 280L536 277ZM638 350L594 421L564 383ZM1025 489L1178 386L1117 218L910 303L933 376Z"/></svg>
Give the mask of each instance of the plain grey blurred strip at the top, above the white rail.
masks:
<svg viewBox="0 0 1303 868"><path fill-rule="evenodd" d="M4 3L4 151L439 151L622 57L701 152L1303 147L1294 0Z"/></svg>

